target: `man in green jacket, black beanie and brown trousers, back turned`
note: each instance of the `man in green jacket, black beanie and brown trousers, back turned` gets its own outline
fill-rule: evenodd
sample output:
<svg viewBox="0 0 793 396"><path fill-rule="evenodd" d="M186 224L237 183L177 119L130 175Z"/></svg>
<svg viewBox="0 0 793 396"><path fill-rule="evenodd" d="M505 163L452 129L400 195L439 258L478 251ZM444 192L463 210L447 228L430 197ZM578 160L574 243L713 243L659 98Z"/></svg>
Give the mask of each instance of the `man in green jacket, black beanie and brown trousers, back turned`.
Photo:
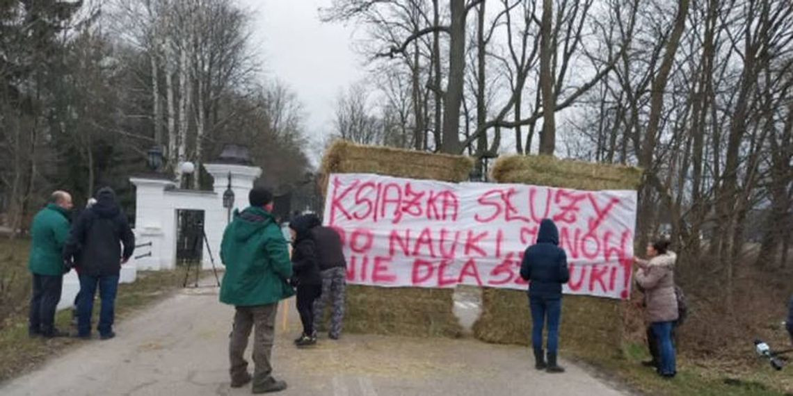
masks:
<svg viewBox="0 0 793 396"><path fill-rule="evenodd" d="M241 213L235 211L234 220L223 234L220 258L226 272L220 286L220 302L236 308L228 345L232 387L251 381L243 354L255 326L253 393L261 394L286 389L284 381L271 375L270 355L278 302L294 295L294 291L288 283L292 276L289 250L271 213L272 193L253 188L248 201L251 206Z"/></svg>

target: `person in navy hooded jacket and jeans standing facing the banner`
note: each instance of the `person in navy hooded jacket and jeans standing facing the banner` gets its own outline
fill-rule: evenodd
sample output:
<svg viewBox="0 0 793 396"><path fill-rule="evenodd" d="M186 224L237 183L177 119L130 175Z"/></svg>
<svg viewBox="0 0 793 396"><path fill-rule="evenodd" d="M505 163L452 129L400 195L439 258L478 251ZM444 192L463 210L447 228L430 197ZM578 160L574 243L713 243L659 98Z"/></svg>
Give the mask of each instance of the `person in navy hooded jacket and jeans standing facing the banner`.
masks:
<svg viewBox="0 0 793 396"><path fill-rule="evenodd" d="M561 318L561 285L570 279L567 255L559 247L559 230L553 220L540 223L537 243L523 253L520 276L530 280L529 306L531 308L535 367L551 373L564 372L557 364L559 349L559 320ZM548 321L548 361L542 351L542 327Z"/></svg>

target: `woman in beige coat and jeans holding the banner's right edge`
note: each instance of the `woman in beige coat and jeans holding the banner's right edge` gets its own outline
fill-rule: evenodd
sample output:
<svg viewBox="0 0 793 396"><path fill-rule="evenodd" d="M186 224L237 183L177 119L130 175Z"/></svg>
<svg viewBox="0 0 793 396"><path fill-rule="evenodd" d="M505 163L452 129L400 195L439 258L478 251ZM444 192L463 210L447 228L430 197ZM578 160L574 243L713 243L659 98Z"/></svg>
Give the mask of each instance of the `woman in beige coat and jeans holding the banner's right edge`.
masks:
<svg viewBox="0 0 793 396"><path fill-rule="evenodd" d="M635 261L639 267L636 282L645 293L645 319L653 329L661 355L658 374L672 378L677 372L672 344L672 326L678 318L674 272L677 256L668 248L668 241L654 242L647 246L649 260Z"/></svg>

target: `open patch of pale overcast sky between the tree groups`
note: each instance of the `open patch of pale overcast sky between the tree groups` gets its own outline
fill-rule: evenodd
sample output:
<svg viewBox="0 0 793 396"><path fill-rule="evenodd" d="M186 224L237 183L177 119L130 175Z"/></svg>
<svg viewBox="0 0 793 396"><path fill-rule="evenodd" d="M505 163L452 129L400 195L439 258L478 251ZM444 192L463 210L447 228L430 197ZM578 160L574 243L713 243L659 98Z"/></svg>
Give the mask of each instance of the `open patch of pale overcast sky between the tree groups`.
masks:
<svg viewBox="0 0 793 396"><path fill-rule="evenodd" d="M353 28L320 21L318 9L331 0L240 0L253 13L268 78L278 78L296 93L306 112L306 132L318 139L331 131L335 98L364 77L351 50Z"/></svg>

